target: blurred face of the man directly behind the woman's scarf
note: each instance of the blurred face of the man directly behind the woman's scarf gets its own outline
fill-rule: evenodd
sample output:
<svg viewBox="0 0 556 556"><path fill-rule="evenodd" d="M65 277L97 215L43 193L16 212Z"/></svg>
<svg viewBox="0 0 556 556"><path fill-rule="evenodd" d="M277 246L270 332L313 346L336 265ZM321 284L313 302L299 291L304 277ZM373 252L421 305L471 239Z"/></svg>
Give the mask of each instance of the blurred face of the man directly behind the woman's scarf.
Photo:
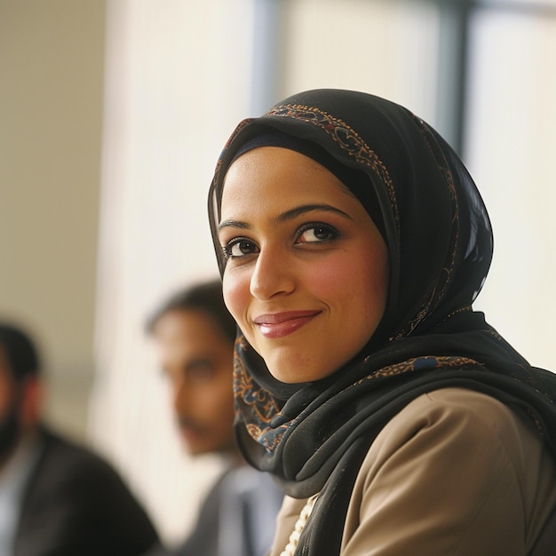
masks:
<svg viewBox="0 0 556 556"><path fill-rule="evenodd" d="M193 309L163 314L154 338L188 451L232 449L233 344L206 314Z"/></svg>

